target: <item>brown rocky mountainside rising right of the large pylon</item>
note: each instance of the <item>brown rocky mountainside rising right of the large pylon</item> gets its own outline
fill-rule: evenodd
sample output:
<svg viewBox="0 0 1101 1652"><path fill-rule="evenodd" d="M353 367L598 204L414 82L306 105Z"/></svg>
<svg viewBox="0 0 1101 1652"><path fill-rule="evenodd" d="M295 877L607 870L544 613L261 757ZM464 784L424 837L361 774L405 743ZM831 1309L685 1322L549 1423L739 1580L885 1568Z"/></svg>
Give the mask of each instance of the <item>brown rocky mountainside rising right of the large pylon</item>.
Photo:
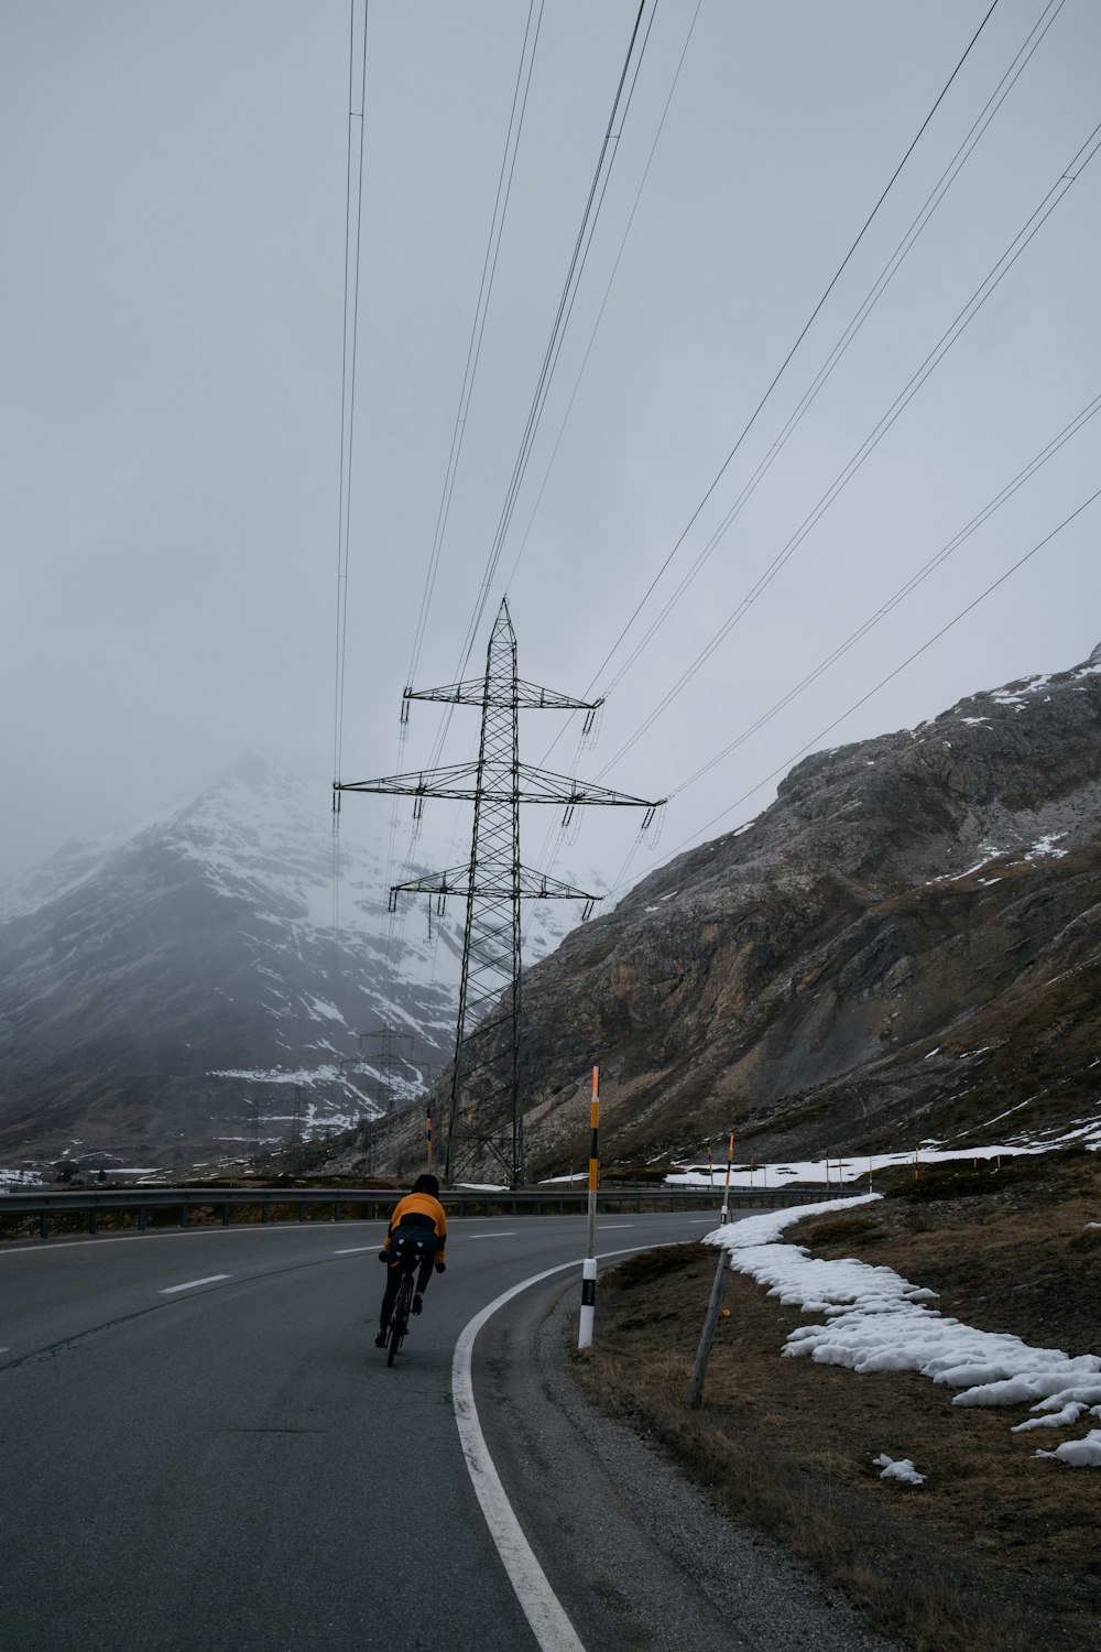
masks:
<svg viewBox="0 0 1101 1652"><path fill-rule="evenodd" d="M593 1062L617 1158L1042 1137L1096 1113L1099 1003L1101 648L807 758L535 965L530 1156L584 1158Z"/></svg>

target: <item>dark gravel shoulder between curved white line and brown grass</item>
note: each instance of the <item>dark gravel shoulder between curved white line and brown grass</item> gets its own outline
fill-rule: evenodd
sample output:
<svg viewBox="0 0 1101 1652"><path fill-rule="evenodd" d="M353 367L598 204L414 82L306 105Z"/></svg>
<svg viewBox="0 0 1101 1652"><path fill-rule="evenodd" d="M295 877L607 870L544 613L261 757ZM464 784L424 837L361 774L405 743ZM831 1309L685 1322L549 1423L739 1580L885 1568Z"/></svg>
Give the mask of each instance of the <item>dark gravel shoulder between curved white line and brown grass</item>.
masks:
<svg viewBox="0 0 1101 1652"><path fill-rule="evenodd" d="M586 1652L891 1652L837 1591L578 1386L576 1300L576 1280L556 1282L497 1313L479 1336L475 1393Z"/></svg>

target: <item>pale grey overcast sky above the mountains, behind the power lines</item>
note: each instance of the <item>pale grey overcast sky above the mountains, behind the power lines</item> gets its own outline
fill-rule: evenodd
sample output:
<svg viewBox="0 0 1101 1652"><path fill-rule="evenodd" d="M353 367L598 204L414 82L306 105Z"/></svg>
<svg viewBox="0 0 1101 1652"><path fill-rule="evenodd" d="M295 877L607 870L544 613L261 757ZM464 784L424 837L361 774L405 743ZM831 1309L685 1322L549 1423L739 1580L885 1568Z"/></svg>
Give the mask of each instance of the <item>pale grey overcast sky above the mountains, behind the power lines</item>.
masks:
<svg viewBox="0 0 1101 1652"><path fill-rule="evenodd" d="M522 674L568 692L594 676L594 692L607 686L1030 31L1042 18L1050 28L837 372L614 687L583 776L604 770L786 550L1101 121L1096 0L999 0L598 674L987 8L659 0L467 674L508 582ZM644 30L650 13L647 0ZM461 664L636 15L637 0L541 10L418 686L449 682ZM437 730L434 710L414 707L399 758L527 25L527 0L370 3L343 780L426 762ZM3 7L0 876L187 798L248 750L315 767L328 808L348 71L348 0ZM678 788L1101 393L1101 160L1060 192L837 502L606 785ZM764 806L774 781L753 788L809 742L911 727L966 692L1089 654L1101 502L819 740L1089 497L1099 451L1101 416L839 666L678 791L636 872L733 805L711 834ZM530 714L523 755L540 762L560 727ZM475 714L457 712L444 762L465 758L474 735ZM576 732L548 765L571 768L574 750ZM380 829L388 816L368 798L347 809ZM558 876L576 862L612 882L636 824L586 821Z"/></svg>

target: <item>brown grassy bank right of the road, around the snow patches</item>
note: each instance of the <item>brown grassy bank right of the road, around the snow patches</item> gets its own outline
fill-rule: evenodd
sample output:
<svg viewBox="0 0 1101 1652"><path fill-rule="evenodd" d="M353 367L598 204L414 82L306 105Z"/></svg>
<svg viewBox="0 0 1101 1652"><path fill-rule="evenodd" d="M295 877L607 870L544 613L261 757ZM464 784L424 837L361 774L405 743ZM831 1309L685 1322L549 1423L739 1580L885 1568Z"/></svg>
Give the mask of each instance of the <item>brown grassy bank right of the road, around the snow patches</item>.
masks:
<svg viewBox="0 0 1101 1652"><path fill-rule="evenodd" d="M1098 1156L1053 1153L906 1173L881 1204L784 1237L885 1264L939 1292L946 1315L1078 1355L1101 1351ZM606 1275L599 1346L576 1361L591 1394L919 1652L1096 1652L1101 1470L1035 1455L1096 1419L1012 1434L1025 1406L952 1406L952 1389L913 1373L784 1356L806 1317L744 1275L726 1290L705 1404L688 1411L715 1265L713 1249L680 1246ZM910 1457L926 1483L881 1480L880 1452Z"/></svg>

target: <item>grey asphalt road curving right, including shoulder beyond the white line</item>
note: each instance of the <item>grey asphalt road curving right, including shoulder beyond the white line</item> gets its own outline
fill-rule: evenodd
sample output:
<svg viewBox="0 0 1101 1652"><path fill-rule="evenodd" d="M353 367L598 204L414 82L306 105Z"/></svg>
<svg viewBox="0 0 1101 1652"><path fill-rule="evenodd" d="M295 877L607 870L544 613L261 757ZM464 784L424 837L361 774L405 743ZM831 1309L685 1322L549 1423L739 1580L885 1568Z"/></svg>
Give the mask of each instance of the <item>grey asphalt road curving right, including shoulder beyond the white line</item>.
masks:
<svg viewBox="0 0 1101 1652"><path fill-rule="evenodd" d="M598 1252L710 1226L692 1213L607 1218ZM447 1274L432 1280L393 1370L373 1346L381 1232L315 1222L0 1251L3 1652L538 1647L464 1460L452 1351L512 1285L579 1267L584 1222L454 1222ZM614 1566L642 1566L650 1581L662 1535L660 1520L645 1535L624 1503L617 1465L629 1441L604 1436L594 1479L599 1452L583 1437L584 1408L553 1330L569 1282L573 1303L569 1269L489 1320L474 1396L520 1526L584 1652L812 1644L761 1639L749 1619L735 1631L728 1597L705 1611L718 1640L687 1622L672 1639L669 1627L647 1631L652 1611L677 1626L687 1573L675 1556L636 1612L642 1629L632 1621L624 1639L614 1591L593 1609L578 1505L607 1531ZM540 1429L553 1436L550 1459L535 1449ZM636 1469L650 1487L655 1472ZM687 1518L677 1515L680 1526ZM726 1639L716 1622L730 1626ZM814 1644L867 1644L845 1634Z"/></svg>

